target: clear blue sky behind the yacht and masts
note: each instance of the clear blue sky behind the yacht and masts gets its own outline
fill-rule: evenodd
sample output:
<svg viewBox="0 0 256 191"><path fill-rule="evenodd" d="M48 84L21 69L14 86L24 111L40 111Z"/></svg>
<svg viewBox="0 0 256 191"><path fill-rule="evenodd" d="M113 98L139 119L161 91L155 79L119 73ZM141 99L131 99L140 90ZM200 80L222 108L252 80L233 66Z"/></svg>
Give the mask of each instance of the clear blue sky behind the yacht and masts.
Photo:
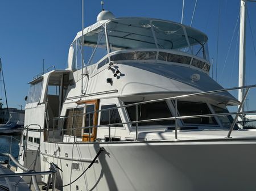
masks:
<svg viewBox="0 0 256 191"><path fill-rule="evenodd" d="M101 11L100 2L84 2L85 27L96 22ZM256 84L256 56L250 32L251 30L255 39L256 3L247 4L251 29L247 22L246 79L247 84ZM194 5L195 0L185 0L184 24L190 24ZM240 10L240 0L197 0L192 27L200 29L209 37L209 52L210 58L214 58L215 78L219 8L217 81L224 87L234 87L238 85L239 22L235 31L234 28ZM180 22L182 0L106 0L104 9L112 11L117 17L146 16ZM42 72L43 58L45 68L52 65L55 65L56 69L67 67L69 45L80 30L81 0L0 1L0 57L9 107L19 107L19 104L24 106L24 97L29 88L27 83ZM256 39L254 42L256 43ZM2 83L0 97L4 98ZM6 107L6 104L4 106Z"/></svg>

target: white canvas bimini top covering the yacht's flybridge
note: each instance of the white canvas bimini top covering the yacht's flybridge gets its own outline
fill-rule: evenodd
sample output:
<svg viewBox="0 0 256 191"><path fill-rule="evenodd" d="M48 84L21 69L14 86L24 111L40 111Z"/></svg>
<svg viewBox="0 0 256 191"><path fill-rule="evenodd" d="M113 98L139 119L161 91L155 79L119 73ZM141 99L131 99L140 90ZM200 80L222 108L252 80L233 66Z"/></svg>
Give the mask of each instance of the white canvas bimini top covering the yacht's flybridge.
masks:
<svg viewBox="0 0 256 191"><path fill-rule="evenodd" d="M84 29L84 46L102 47L109 43L110 52L120 49L173 49L209 60L208 38L197 29L160 19L107 18L110 19L98 19L97 23ZM74 44L81 44L81 36L80 31L71 48Z"/></svg>

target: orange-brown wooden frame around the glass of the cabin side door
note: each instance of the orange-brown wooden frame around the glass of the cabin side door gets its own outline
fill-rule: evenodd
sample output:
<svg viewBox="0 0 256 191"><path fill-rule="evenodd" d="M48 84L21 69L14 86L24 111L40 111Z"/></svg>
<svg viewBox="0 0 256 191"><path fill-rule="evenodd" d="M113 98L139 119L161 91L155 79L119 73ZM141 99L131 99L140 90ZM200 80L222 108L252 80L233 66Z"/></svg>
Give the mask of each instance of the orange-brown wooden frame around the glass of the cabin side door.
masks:
<svg viewBox="0 0 256 191"><path fill-rule="evenodd" d="M86 112L86 105L94 104L94 112L98 111L99 105L100 105L100 100L80 100L76 102L77 105L85 105L85 112ZM93 126L98 124L98 112L94 113L93 117ZM83 126L85 126L85 120L83 121ZM90 142L95 141L97 137L97 128L92 128L92 133L90 134ZM82 142L88 142L89 141L89 134L84 134L84 130L82 130Z"/></svg>

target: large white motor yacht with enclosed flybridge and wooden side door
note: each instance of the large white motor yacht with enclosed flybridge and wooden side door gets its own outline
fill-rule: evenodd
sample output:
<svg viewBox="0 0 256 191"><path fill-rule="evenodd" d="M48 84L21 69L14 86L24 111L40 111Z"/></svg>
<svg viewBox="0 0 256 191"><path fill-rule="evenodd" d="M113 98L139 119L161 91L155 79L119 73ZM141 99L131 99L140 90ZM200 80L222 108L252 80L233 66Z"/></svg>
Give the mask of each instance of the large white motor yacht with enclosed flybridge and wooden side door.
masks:
<svg viewBox="0 0 256 191"><path fill-rule="evenodd" d="M207 42L180 23L100 12L68 68L30 82L19 163L54 163L59 190L255 190L256 130L237 120L256 86L210 78Z"/></svg>

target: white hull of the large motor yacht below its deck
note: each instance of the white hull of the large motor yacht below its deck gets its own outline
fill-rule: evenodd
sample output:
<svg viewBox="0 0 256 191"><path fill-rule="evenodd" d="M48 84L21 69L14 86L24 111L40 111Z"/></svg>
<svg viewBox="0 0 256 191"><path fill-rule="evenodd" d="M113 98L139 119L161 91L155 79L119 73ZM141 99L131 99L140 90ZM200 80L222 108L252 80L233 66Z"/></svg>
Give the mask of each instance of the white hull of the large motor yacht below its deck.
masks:
<svg viewBox="0 0 256 191"><path fill-rule="evenodd" d="M248 191L256 188L256 140L81 143L74 147L46 143L44 146L47 154L41 156L42 171L49 168L45 159L62 168L59 186L75 180L99 148L105 148L97 162L63 190ZM56 156L51 154L58 147L60 152ZM72 147L73 156L79 156L73 158L73 163L80 164L79 170L71 171Z"/></svg>

